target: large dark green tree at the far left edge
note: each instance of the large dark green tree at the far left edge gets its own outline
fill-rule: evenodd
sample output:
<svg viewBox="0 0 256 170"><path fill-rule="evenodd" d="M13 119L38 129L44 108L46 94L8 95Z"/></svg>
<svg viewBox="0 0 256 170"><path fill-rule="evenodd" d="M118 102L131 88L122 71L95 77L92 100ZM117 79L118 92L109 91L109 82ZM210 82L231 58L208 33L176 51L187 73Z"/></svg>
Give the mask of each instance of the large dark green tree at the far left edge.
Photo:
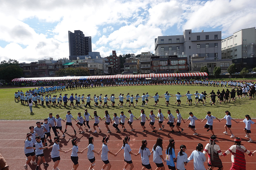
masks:
<svg viewBox="0 0 256 170"><path fill-rule="evenodd" d="M10 82L12 79L23 76L23 70L19 66L19 62L15 59L9 59L7 62L3 60L0 63L0 79Z"/></svg>

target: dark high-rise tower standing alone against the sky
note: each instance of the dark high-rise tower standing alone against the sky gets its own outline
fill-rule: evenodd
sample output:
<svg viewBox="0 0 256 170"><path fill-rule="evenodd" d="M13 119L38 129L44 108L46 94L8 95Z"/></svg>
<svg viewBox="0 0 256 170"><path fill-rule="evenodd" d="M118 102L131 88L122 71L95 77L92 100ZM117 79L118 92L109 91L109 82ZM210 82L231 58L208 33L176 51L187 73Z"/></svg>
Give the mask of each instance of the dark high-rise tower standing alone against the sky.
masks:
<svg viewBox="0 0 256 170"><path fill-rule="evenodd" d="M70 56L88 55L92 51L92 38L84 37L80 30L68 31Z"/></svg>

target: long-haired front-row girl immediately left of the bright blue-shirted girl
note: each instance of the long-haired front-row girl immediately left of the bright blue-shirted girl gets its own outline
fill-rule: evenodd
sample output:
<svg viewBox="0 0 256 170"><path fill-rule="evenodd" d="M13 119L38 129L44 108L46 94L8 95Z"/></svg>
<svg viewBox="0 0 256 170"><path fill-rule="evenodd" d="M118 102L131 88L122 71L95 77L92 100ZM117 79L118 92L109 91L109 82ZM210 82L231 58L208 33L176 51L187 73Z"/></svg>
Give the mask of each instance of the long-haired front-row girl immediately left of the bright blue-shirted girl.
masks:
<svg viewBox="0 0 256 170"><path fill-rule="evenodd" d="M154 144L151 150L151 153L153 153L153 161L157 165L157 170L165 170L163 161L165 162L166 159L163 158L162 151L163 151L163 139L157 138L157 142L156 144Z"/></svg>

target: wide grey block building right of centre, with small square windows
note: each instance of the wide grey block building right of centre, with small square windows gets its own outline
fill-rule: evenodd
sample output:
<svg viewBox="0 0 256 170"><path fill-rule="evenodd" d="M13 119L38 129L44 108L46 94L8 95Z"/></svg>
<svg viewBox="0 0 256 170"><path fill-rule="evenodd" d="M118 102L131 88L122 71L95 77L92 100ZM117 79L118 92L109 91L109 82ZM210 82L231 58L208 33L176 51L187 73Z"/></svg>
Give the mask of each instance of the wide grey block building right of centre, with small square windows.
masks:
<svg viewBox="0 0 256 170"><path fill-rule="evenodd" d="M183 31L183 35L160 36L155 39L155 55L186 54L189 58L193 54L206 59L221 57L221 31L192 32Z"/></svg>

